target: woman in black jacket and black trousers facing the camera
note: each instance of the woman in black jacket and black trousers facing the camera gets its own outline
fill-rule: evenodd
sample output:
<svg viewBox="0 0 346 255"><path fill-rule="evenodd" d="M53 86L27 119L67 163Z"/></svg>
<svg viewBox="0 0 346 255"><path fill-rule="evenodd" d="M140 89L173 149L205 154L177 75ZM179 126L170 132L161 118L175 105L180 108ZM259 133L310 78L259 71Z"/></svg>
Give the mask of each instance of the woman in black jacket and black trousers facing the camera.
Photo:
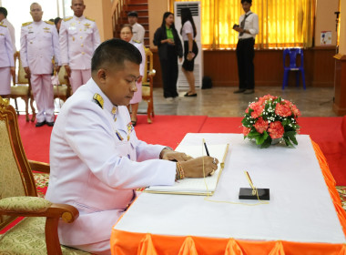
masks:
<svg viewBox="0 0 346 255"><path fill-rule="evenodd" d="M158 57L161 65L163 97L173 101L178 97L178 57L182 61L183 50L181 41L174 26L174 15L166 12L162 24L154 35L154 45L158 46Z"/></svg>

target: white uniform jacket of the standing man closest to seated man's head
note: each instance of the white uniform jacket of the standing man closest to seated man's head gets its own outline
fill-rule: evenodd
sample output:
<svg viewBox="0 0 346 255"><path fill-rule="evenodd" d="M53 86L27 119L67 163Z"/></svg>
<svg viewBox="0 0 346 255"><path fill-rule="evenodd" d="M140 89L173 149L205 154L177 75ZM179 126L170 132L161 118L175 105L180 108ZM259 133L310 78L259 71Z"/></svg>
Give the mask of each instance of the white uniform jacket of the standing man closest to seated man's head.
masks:
<svg viewBox="0 0 346 255"><path fill-rule="evenodd" d="M69 65L71 69L90 69L91 58L100 44L96 22L83 15L64 19L59 42L63 65Z"/></svg>

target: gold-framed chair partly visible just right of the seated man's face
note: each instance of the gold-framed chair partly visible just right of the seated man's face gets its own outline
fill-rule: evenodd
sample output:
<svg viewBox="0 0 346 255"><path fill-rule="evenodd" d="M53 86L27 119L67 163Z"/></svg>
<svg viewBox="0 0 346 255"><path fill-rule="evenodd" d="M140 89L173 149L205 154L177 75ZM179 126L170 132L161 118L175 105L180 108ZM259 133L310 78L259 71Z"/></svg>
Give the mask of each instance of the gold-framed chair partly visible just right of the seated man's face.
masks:
<svg viewBox="0 0 346 255"><path fill-rule="evenodd" d="M148 123L152 123L151 117L154 117L154 98L153 98L153 77L156 70L153 68L153 53L145 47L147 65L144 68L144 76L142 78L142 99L148 103Z"/></svg>

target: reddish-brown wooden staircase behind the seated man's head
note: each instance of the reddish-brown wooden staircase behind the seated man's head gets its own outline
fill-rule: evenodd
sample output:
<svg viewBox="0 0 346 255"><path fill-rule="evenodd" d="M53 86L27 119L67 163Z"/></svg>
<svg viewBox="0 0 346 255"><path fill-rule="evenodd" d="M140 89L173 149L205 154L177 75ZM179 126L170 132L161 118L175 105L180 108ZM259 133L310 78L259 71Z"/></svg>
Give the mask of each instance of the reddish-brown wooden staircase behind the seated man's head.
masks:
<svg viewBox="0 0 346 255"><path fill-rule="evenodd" d="M144 46L149 46L149 17L148 17L148 0L123 0L122 6L118 4L118 14L116 20L116 26L114 36L120 37L120 29L124 24L128 24L127 14L132 11L136 11L138 14L137 23L144 26L146 34L144 36Z"/></svg>

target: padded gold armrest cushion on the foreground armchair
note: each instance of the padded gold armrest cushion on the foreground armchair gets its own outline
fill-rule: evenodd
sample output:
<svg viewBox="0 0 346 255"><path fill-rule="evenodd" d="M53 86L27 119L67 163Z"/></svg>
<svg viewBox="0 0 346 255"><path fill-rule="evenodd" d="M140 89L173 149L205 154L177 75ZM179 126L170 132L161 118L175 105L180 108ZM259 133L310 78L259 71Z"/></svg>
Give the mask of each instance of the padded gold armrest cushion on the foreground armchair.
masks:
<svg viewBox="0 0 346 255"><path fill-rule="evenodd" d="M43 212L51 205L50 201L36 197L11 197L0 200L0 209L7 211Z"/></svg>

